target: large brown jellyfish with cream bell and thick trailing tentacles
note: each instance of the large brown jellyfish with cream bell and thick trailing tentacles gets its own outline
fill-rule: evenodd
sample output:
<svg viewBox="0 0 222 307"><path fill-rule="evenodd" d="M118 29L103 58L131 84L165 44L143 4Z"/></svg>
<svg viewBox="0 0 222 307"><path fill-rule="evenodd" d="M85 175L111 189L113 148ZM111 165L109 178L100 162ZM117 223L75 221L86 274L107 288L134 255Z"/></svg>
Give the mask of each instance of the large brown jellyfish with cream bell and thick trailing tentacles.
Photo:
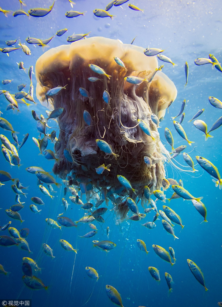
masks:
<svg viewBox="0 0 222 307"><path fill-rule="evenodd" d="M126 76L144 79L158 68L157 57L146 56L143 51L142 47L119 40L91 37L50 49L37 60L36 94L42 105L47 107L45 93L50 88L68 84L66 90L49 99L49 109L64 108L58 118L58 138L62 143L58 158L63 161L59 166L54 165L56 175L65 179L71 172L75 178L84 178L84 182L90 181L99 189L121 187L116 175L122 175L138 190L139 197L144 185L148 185L151 192L161 188L165 177L164 146L151 114L158 118L164 116L171 99L176 99L177 89L160 71L150 83L144 81L134 85L124 80ZM123 61L127 72L114 57ZM93 72L89 64L103 68L111 75L110 80ZM101 80L90 82L88 77ZM88 91L89 98L80 95L80 87ZM103 101L104 90L111 96L109 104ZM84 121L84 110L92 117L90 126ZM150 127L155 141L141 130L138 119ZM101 151L96 139L111 145L113 152L119 155L117 160ZM65 148L73 163L64 157ZM151 167L147 167L144 156L152 160ZM95 168L103 163L111 164L110 172L99 175Z"/></svg>

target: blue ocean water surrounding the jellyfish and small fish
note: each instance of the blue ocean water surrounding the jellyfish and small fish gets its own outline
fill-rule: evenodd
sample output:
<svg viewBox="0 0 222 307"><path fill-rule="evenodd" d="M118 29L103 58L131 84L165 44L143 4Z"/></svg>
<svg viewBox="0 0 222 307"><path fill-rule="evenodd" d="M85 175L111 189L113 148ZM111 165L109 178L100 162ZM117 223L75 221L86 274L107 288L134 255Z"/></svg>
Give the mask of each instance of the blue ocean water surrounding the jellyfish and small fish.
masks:
<svg viewBox="0 0 222 307"><path fill-rule="evenodd" d="M52 5L51 1L25 1L26 12L33 7L46 7ZM208 58L208 54L214 54L220 63L221 58L221 3L217 1L178 1L178 0L150 0L134 1L132 4L144 9L140 11L130 10L126 4L121 7L113 7L109 12L116 15L112 21L109 17L98 18L93 15L95 8L105 8L105 1L76 0L73 10L87 11L85 16L79 16L75 19L65 17L65 12L71 10L67 0L56 0L53 10L45 17L34 18L27 16L13 17L8 15L6 18L1 13L0 21L0 46L5 48L5 41L13 40L20 37L21 42L29 35L41 39L49 38L55 35L56 31L68 28L68 32L62 37L55 37L49 43L50 48L68 44L66 39L73 32L90 33L90 37L103 36L111 39L119 39L124 44L130 44L137 35L134 45L148 48L166 49L164 54L170 57L178 66L173 68L171 64L164 64L163 72L173 81L177 88L177 99L169 108L169 114L166 112L164 120L160 123L160 139L170 150L169 144L164 137L164 129L168 127L172 133L175 146L187 145L184 140L176 133L173 127L171 116L176 116L180 111L181 103L186 99L185 119L183 128L188 138L195 143L187 146L186 152L193 158L196 164L195 156L203 156L210 160L219 172L222 170L221 163L221 128L212 132L214 138L209 138L207 142L202 137L202 132L197 130L193 123L187 123L189 119L201 108L205 111L201 115L208 127L221 116L220 109L216 109L208 102L208 96L214 96L221 100L221 72L210 65L196 66L196 58ZM17 10L20 4L17 0L10 2L0 1L0 6L5 10ZM28 45L28 44L26 44ZM16 93L17 86L21 83L27 83L26 89L29 88L29 77L24 71L18 69L16 62L23 61L24 67L34 67L36 60L48 49L38 46L28 45L31 50L31 56L25 55L21 50L10 52L9 57L0 54L0 80L13 79L10 84L1 85L0 89L6 89L10 93ZM185 61L189 64L188 84L185 84ZM33 75L34 99L36 78ZM9 277L4 274L0 275L1 280L1 299L32 299L32 305L39 306L112 306L108 299L105 286L107 284L114 286L121 294L123 306L216 306L217 302L222 301L222 268L221 268L221 191L216 188L212 178L199 165L196 173L185 173L174 168L166 161L166 178L174 178L179 181L183 180L184 187L194 196L203 196L203 203L207 208L208 223L201 223L202 216L195 210L193 204L182 199L171 200L170 207L180 215L184 229L175 226L175 234L179 240L173 240L171 235L163 229L161 220L156 221L154 229L142 227L142 222L151 221L153 213L148 213L146 218L141 221L124 221L120 225L115 225L113 211L108 210L104 214L105 223L96 223L98 233L93 238L80 238L91 229L87 223L79 223L78 227L62 227L53 229L49 227L45 219L52 218L56 220L59 213L62 213L63 188L55 188L56 193L53 200L49 196L41 193L36 185L36 176L26 172L25 168L29 166L41 166L47 172L52 172L53 161L46 160L39 156L39 149L34 145L32 137L38 138L36 122L34 121L31 111L35 110L37 114L43 114L46 117L46 108L37 105L30 106L20 105L21 112L16 114L12 110L5 111L7 101L2 94L0 96L0 107L3 112L2 117L7 119L16 131L19 131L18 139L21 142L26 133L29 138L25 145L19 151L22 166L13 166L10 168L9 163L1 153L1 170L9 172L13 178L19 178L24 186L29 185L27 199L21 196L21 201L25 201L25 207L19 212L25 220L20 223L17 220L10 219L5 210L15 204L15 193L11 189L11 181L5 182L0 189L1 203L0 207L0 224L6 224L12 220L11 226L20 230L27 227L30 232L27 237L30 250L19 250L17 247L0 246L0 263L6 271L11 272ZM49 126L57 127L56 123L51 120ZM57 129L57 128L56 128ZM48 130L47 132L50 132ZM1 129L1 134L13 142L11 133ZM58 137L58 133L57 133ZM190 148L188 148L190 147ZM49 149L53 150L53 145L49 144ZM182 156L177 157L177 161L187 166ZM99 165L98 165L99 166ZM185 167L182 167L186 169ZM53 175L53 173L51 173ZM57 178L61 182L60 178ZM47 187L47 186L46 186ZM166 191L166 197L170 198L173 189L170 187ZM70 194L68 194L70 195ZM80 195L80 194L79 194ZM34 214L29 209L32 204L30 198L33 196L41 197L45 206L39 206L42 209L41 214ZM83 201L85 201L83 196ZM155 199L154 196L152 196ZM71 204L66 216L72 220L78 220L84 215L80 206ZM163 203L158 200L158 210L162 209ZM112 208L111 202L108 206ZM139 204L140 212L143 208ZM110 227L109 239L116 243L116 247L108 253L101 252L92 248L92 239L106 240L106 227ZM181 231L181 232L180 232ZM9 235L8 230L0 232L0 235ZM78 248L76 255L72 251L65 251L60 246L59 240L67 240L74 248ZM148 255L137 247L136 240L142 239L146 243L149 251ZM53 255L56 257L51 260L50 257L42 251L42 244L47 243L53 249ZM175 251L177 259L175 265L164 262L153 251L152 244L164 247L166 250L169 246ZM38 278L49 286L45 291L31 290L27 288L22 281L21 263L23 257L31 257L37 261L38 266L43 268L42 274ZM204 291L189 270L187 258L193 260L204 274L206 287ZM88 277L85 267L91 266L98 271L100 275L98 282ZM158 284L151 277L148 266L158 268L161 282ZM74 267L74 269L73 269ZM173 292L168 297L168 286L165 281L164 273L168 272L174 281Z"/></svg>

